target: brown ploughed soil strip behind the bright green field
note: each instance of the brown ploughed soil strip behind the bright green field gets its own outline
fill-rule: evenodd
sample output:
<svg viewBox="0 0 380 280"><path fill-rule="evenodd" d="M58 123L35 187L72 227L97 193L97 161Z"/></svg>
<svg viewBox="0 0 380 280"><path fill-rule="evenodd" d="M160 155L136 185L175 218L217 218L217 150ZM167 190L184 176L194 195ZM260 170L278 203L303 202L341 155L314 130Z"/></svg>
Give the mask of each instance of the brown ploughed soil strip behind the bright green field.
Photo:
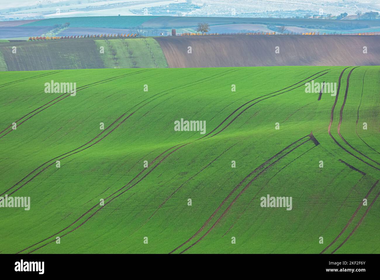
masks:
<svg viewBox="0 0 380 280"><path fill-rule="evenodd" d="M157 37L169 67L380 65L376 35L209 35ZM188 46L192 53L187 53ZM280 53L275 53L275 47ZM363 46L368 53L363 54Z"/></svg>

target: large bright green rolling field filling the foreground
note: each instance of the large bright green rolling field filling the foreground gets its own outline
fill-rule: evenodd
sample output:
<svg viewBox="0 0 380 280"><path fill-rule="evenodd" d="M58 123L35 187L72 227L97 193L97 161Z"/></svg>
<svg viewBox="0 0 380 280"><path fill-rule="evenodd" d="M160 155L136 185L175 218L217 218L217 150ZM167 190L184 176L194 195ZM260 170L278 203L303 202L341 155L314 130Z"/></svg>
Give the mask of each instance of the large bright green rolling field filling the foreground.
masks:
<svg viewBox="0 0 380 280"><path fill-rule="evenodd" d="M0 253L380 253L379 66L0 77L1 196L30 197L0 208ZM260 207L268 194L291 211Z"/></svg>

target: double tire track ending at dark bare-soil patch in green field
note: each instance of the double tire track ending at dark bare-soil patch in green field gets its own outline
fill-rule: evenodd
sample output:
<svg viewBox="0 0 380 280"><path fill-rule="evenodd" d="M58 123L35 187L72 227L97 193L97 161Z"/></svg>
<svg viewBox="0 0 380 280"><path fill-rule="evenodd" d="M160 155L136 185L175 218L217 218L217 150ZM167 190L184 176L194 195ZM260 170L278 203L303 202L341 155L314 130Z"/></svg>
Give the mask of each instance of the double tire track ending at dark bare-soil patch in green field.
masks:
<svg viewBox="0 0 380 280"><path fill-rule="evenodd" d="M277 154L275 154L274 156L272 156L271 158L269 158L268 160L266 160L264 163L262 163L260 166L258 166L257 168L255 168L251 173L249 173L247 176L245 176L245 178L242 179L242 181L239 182L239 184L237 184L233 190L231 190L231 192L225 197L225 199L220 203L220 205L216 208L216 210L211 214L211 216L207 219L206 222L204 222L203 226L201 226L201 228L195 233L192 235L192 237L190 237L188 240L186 240L184 243L182 243L181 245L179 245L177 248L175 248L174 250L172 250L169 254L172 254L174 253L176 250L178 250L179 248L181 248L182 246L184 246L185 244L187 244L188 242L190 242L193 238L195 238L206 226L207 224L209 224L209 222L211 221L212 218L214 218L214 216L217 214L217 212L220 210L220 208L225 204L225 202L228 200L228 198L231 197L231 195L233 195L233 193L240 187L242 186L242 184L248 179L250 178L254 173L256 173L257 171L259 171L260 169L264 168L265 165L267 165L269 162L271 162L271 160L273 160L274 158L277 158L279 157L280 154L282 154L283 152L285 152L285 150L289 149L291 146L295 145L297 142L299 141L302 141L302 139L308 137L309 135L306 135L296 141L294 141L293 143L291 143L290 145L288 145L287 147L285 147L284 149L280 150L280 152L278 152ZM310 139L306 140L305 142L309 141ZM303 142L303 143L305 143ZM302 144L303 144L302 143ZM298 145L297 147L299 147L300 145ZM296 147L296 148L297 148ZM292 150L291 150L292 151ZM288 154L288 153L287 153ZM286 154L285 154L286 155ZM282 156L283 157L283 156ZM282 157L279 157L277 160L275 160L273 163L277 162L278 160L280 160L280 158ZM265 171L268 167L270 167L273 163L269 164L267 167L265 167L260 173L258 173L258 175L256 175L253 179L257 178L257 176L261 175L263 173L263 171ZM240 194L242 194L245 189L247 189L247 187L252 184L253 180L251 180L246 186L245 188L241 191ZM238 195L237 197L235 197L233 203L236 201L236 199L239 197L240 195ZM230 206L233 204L231 203ZM226 209L226 211L228 211L228 209L230 208L230 206ZM225 213L226 213L225 211ZM225 214L224 213L224 214ZM223 215L223 214L222 214ZM224 215L223 215L224 216ZM220 218L218 219L218 221L220 221ZM217 222L218 222L217 221ZM216 224L214 224L215 226ZM213 227L212 227L213 228ZM209 232L209 231L208 231ZM208 234L207 232L207 234ZM203 238L203 237L202 237ZM200 240L198 240L196 243L198 243ZM195 245L195 243L193 244ZM192 245L192 246L193 246ZM190 247L188 247L190 248ZM187 249L186 249L187 250ZM183 253L183 251L181 252Z"/></svg>

